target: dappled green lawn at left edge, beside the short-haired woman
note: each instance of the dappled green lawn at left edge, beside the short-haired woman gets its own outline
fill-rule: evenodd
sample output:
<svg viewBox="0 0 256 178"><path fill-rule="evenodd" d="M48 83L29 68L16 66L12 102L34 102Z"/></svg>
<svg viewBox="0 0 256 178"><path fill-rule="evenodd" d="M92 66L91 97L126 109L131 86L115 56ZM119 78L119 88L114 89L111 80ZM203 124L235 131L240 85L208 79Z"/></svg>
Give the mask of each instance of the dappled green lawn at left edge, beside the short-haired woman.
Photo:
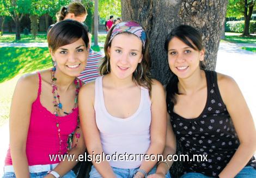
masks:
<svg viewBox="0 0 256 178"><path fill-rule="evenodd" d="M0 47L0 83L51 65L47 47Z"/></svg>

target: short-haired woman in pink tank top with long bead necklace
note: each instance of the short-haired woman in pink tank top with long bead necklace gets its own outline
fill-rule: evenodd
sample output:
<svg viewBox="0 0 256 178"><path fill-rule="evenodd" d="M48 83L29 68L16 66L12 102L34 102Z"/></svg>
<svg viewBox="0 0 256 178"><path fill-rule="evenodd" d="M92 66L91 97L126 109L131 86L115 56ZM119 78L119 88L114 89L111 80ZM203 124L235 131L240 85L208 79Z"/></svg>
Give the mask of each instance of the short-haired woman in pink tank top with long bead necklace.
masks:
<svg viewBox="0 0 256 178"><path fill-rule="evenodd" d="M87 27L73 20L58 22L47 41L54 67L22 76L14 91L3 177L75 177L71 169L85 151L78 123L82 82L76 77L87 63Z"/></svg>

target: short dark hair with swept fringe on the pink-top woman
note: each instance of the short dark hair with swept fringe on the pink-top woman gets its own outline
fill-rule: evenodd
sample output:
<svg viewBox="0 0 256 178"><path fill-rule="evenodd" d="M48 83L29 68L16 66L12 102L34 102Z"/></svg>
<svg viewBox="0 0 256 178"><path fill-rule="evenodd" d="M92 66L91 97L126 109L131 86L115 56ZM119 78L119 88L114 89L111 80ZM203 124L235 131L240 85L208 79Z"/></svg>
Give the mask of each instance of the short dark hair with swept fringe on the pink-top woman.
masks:
<svg viewBox="0 0 256 178"><path fill-rule="evenodd" d="M47 34L48 47L55 52L60 46L69 45L82 38L86 47L89 44L88 28L74 20L56 23Z"/></svg>

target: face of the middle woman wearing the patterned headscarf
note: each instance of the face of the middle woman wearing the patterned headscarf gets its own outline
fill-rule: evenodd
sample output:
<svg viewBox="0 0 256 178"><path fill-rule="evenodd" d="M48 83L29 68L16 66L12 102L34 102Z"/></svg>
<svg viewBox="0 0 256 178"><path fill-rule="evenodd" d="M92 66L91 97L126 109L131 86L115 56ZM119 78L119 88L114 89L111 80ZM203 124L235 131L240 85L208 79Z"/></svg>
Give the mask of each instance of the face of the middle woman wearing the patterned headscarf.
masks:
<svg viewBox="0 0 256 178"><path fill-rule="evenodd" d="M108 47L111 74L118 78L132 78L138 63L142 61L142 41L133 34L118 34Z"/></svg>

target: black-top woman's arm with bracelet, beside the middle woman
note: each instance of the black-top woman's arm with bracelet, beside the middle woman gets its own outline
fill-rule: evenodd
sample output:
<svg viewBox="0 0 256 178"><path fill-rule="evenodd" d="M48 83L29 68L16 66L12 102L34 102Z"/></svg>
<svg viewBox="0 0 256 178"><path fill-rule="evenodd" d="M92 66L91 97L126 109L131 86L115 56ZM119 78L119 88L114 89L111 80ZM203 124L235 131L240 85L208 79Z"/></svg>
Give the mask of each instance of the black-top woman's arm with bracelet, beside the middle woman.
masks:
<svg viewBox="0 0 256 178"><path fill-rule="evenodd" d="M176 152L176 138L173 133L172 125L170 124L170 116L167 114L167 132L166 132L166 146L163 150L163 159L166 159L166 163L159 162L157 165L156 174L149 175L149 178L166 177L170 167L172 167L173 161L168 161L171 157L168 155L174 155ZM160 160L161 161L161 160ZM164 161L164 160L163 160Z"/></svg>

